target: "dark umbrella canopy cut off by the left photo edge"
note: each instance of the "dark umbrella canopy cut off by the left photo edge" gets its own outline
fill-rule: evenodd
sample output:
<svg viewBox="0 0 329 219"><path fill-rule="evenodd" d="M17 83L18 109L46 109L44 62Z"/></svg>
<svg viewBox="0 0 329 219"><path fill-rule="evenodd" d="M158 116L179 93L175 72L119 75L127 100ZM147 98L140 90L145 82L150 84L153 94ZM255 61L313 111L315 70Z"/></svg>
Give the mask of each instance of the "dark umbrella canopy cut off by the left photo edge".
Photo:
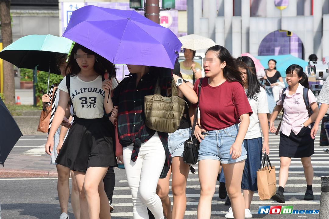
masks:
<svg viewBox="0 0 329 219"><path fill-rule="evenodd" d="M22 132L0 98L0 164L4 164Z"/></svg>

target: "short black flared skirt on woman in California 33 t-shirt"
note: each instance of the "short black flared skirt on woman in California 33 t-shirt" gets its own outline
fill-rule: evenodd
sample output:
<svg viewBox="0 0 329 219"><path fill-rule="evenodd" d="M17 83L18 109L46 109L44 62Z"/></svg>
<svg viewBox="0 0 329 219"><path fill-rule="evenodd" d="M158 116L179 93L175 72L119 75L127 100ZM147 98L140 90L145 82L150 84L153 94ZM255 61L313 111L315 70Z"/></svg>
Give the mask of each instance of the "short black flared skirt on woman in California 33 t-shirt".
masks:
<svg viewBox="0 0 329 219"><path fill-rule="evenodd" d="M76 118L56 163L79 172L89 167L116 167L114 127L109 118Z"/></svg>

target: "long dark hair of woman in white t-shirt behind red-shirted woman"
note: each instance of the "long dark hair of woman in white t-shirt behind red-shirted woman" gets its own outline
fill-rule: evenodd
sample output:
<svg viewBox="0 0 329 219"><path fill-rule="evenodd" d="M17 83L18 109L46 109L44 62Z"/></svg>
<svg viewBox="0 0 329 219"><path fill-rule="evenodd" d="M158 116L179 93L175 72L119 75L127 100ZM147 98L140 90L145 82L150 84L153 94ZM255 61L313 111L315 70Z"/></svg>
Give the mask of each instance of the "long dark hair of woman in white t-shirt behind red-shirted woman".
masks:
<svg viewBox="0 0 329 219"><path fill-rule="evenodd" d="M254 61L248 56L240 56L237 60L243 62L249 68L247 71L248 78L248 92L247 97L255 95L261 91L261 83L259 82L256 74L256 67Z"/></svg>

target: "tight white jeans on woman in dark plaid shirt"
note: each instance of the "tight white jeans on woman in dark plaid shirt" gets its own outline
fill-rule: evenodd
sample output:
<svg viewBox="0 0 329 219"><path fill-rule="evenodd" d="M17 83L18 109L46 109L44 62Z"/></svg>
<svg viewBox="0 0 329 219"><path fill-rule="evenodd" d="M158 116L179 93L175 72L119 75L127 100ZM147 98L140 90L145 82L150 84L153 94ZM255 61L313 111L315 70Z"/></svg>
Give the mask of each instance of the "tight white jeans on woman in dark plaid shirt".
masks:
<svg viewBox="0 0 329 219"><path fill-rule="evenodd" d="M133 199L134 219L148 219L147 208L156 219L162 219L161 199L155 192L164 166L165 152L158 133L142 143L135 163L130 160L132 151L133 144L124 147L122 154Z"/></svg>

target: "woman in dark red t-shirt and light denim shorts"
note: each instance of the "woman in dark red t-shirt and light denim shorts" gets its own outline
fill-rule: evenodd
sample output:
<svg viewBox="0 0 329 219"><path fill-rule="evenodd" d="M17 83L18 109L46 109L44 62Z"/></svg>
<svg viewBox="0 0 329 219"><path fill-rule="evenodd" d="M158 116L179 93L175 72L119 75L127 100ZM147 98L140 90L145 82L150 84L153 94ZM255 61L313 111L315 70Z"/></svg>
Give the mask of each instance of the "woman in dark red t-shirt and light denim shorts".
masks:
<svg viewBox="0 0 329 219"><path fill-rule="evenodd" d="M196 125L194 132L200 141L198 219L210 218L220 164L224 170L233 214L235 218L244 218L241 179L247 155L243 139L252 110L242 87L242 75L238 67L248 68L219 45L209 48L203 60L206 77L202 80L199 96L200 124ZM196 93L199 81L194 84ZM190 115L194 115L195 107L196 104L190 107ZM190 119L193 121L194 116Z"/></svg>

